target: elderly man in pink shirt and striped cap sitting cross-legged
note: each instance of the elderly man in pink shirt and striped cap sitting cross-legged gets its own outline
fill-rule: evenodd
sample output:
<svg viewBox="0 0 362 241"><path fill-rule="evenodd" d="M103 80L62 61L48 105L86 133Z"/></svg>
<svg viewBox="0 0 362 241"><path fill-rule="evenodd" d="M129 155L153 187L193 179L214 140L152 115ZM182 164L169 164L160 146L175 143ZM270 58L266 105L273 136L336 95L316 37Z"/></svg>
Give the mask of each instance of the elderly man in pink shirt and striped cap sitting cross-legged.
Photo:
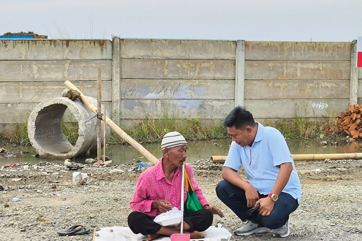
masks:
<svg viewBox="0 0 362 241"><path fill-rule="evenodd" d="M157 165L141 173L130 201L130 206L135 211L128 216L128 225L132 232L147 235L148 240L153 240L160 234L171 236L180 233L181 225L162 227L153 219L172 207L181 208L182 165L187 157L187 142L180 133L170 132L162 139L161 149L163 158ZM203 238L201 232L212 224L212 215L223 217L223 214L218 208L209 206L202 190L193 179L191 166L185 164L185 170L202 209L184 215L184 233L190 233L191 238ZM188 197L186 191L184 197L185 202Z"/></svg>

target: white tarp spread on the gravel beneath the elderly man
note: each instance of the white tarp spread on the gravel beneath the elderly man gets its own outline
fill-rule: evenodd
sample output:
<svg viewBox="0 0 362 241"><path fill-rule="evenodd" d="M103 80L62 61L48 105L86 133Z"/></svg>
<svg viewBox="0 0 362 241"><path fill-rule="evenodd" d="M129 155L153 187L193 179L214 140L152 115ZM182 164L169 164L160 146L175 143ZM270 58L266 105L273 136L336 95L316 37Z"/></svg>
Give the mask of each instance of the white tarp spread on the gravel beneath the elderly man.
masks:
<svg viewBox="0 0 362 241"><path fill-rule="evenodd" d="M110 232L110 229L112 229L113 232ZM96 233L98 233L99 236L96 236ZM202 233L205 235L205 238L191 240L228 241L231 238L231 233L222 227L216 228L211 226ZM145 238L147 240L147 236L132 233L129 227L117 226L101 228L100 231L94 231L93 235L93 241L142 241ZM162 236L155 239L155 241L171 241L171 238Z"/></svg>

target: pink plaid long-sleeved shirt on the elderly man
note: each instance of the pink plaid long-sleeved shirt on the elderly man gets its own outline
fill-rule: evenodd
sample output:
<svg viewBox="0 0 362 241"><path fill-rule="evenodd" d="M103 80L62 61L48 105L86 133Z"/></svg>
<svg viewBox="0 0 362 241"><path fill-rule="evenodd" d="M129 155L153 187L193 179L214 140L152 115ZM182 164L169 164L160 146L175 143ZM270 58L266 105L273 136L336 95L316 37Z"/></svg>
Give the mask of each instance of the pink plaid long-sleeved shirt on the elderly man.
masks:
<svg viewBox="0 0 362 241"><path fill-rule="evenodd" d="M182 176L180 169L176 169L172 182L170 182L163 173L162 161L163 159L157 163L157 165L148 168L139 176L136 189L130 201L130 206L133 210L155 217L159 215L160 212L157 208L151 209L151 205L153 200L159 199L165 199L169 201L172 206L181 209ZM194 188L201 206L209 205L202 194L202 190L198 187L197 182L194 181L191 166L185 164L185 169L190 177L192 187ZM186 188L184 197L185 202L187 199Z"/></svg>

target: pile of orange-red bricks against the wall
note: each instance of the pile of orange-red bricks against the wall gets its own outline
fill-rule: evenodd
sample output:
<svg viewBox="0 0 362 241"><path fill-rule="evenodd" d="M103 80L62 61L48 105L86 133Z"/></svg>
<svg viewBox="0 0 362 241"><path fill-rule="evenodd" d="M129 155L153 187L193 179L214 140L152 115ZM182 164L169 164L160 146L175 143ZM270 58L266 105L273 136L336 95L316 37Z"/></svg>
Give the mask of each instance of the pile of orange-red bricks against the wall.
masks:
<svg viewBox="0 0 362 241"><path fill-rule="evenodd" d="M337 128L353 139L362 138L362 105L349 103L349 110L337 116Z"/></svg>

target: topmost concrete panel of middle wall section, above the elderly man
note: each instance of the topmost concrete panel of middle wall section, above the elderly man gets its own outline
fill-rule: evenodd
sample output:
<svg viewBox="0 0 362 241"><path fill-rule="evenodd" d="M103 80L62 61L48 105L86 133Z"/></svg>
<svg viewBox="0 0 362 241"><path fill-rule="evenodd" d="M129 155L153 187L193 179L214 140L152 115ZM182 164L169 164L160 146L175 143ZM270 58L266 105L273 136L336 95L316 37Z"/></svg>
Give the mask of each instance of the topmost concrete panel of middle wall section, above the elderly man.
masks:
<svg viewBox="0 0 362 241"><path fill-rule="evenodd" d="M235 60L236 41L122 39L121 58Z"/></svg>

